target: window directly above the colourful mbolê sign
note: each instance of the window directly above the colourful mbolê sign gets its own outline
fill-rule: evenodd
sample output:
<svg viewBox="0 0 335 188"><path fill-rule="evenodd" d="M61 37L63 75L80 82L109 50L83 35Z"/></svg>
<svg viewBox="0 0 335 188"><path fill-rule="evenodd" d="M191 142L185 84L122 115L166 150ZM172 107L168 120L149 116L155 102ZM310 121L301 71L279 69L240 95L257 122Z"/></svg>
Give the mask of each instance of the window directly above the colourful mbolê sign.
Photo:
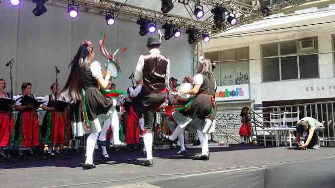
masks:
<svg viewBox="0 0 335 188"><path fill-rule="evenodd" d="M217 63L214 69L214 78L218 86L249 84L249 47L228 49L205 53L205 57L212 61L225 61Z"/></svg>

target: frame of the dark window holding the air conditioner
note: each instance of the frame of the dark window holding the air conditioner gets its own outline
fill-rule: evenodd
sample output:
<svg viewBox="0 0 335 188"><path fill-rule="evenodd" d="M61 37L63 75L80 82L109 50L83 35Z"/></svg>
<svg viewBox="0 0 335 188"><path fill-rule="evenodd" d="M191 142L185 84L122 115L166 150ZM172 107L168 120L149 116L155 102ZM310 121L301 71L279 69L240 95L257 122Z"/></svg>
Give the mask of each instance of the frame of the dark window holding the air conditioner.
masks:
<svg viewBox="0 0 335 188"><path fill-rule="evenodd" d="M335 35L334 35L335 36ZM317 46L317 49L316 49L316 52L315 53L319 53L319 47L318 47L318 37L306 37L306 38L301 38L301 39L294 39L294 40L288 40L288 41L281 41L281 42L276 42L276 43L265 43L265 44L261 44L260 47L261 47L261 60L262 60L262 72L261 72L261 76L262 76L262 83L270 83L270 82L282 82L282 81L294 81L294 80L305 80L305 79L318 79L320 78L320 65L319 65L319 55L317 55L318 57L318 77L314 77L314 78L301 78L300 77L300 56L302 55L306 55L308 53L299 53L299 41L301 40L308 40L308 39L316 39L316 46ZM283 44L283 43L289 43L289 42L292 42L292 41L295 41L296 42L296 49L297 49L297 52L296 53L290 53L290 54L285 54L285 55L281 55L280 54L280 44ZM332 40L333 41L333 40ZM263 46L265 45L270 45L270 44L277 44L278 45L278 55L275 55L275 56L267 56L267 57L263 57ZM334 46L333 46L334 47ZM294 78L294 79L285 79L285 80L282 80L282 74L281 74L281 58L282 57L289 57L289 56L294 56L294 57L297 57L297 72L298 72L298 78ZM264 81L264 77L263 77L263 72L264 72L264 67L263 67L263 59L265 58L279 58L279 80L276 80L276 81ZM335 69L334 69L335 70Z"/></svg>

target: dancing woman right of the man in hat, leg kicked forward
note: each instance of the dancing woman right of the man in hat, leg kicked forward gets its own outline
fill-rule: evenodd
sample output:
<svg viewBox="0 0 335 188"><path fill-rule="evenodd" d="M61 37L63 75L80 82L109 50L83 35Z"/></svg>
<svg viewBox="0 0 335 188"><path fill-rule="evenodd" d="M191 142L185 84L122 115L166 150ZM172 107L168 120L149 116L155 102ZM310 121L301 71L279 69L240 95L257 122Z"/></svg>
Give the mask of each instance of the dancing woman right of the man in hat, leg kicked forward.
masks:
<svg viewBox="0 0 335 188"><path fill-rule="evenodd" d="M179 126L171 136L165 135L166 139L174 141L187 125L196 128L201 142L201 154L195 157L199 160L209 160L207 133L213 132L211 118L215 117L216 111L214 90L215 80L213 78L211 62L209 59L201 56L198 63L198 74L194 77L193 89L182 92L183 94L194 96L185 107L179 109L180 112L173 112L173 117ZM188 120L181 119L181 113L183 116L187 116Z"/></svg>

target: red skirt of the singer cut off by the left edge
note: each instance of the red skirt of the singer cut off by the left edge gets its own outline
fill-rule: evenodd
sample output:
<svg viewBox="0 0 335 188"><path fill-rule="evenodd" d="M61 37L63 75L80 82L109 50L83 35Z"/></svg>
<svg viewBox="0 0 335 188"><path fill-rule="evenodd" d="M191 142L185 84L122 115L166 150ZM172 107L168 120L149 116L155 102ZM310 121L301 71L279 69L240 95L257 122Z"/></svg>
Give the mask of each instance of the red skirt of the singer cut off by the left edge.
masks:
<svg viewBox="0 0 335 188"><path fill-rule="evenodd" d="M9 118L8 118L9 115ZM10 130L8 129L10 126ZM0 112L0 147L8 146L9 132L13 135L14 117L11 112Z"/></svg>

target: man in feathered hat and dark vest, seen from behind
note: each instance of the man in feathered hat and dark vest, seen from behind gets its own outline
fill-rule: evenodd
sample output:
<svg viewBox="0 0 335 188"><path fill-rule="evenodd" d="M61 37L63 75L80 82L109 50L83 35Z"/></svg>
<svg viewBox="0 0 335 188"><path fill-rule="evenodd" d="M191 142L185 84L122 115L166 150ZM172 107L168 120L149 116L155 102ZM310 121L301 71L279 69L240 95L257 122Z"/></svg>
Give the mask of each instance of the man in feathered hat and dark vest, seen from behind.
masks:
<svg viewBox="0 0 335 188"><path fill-rule="evenodd" d="M143 137L146 148L144 166L153 165L152 160L152 129L154 113L167 98L166 86L170 76L170 60L159 51L162 34L148 38L148 53L138 59L134 74L135 81L143 79L143 115L145 134Z"/></svg>

